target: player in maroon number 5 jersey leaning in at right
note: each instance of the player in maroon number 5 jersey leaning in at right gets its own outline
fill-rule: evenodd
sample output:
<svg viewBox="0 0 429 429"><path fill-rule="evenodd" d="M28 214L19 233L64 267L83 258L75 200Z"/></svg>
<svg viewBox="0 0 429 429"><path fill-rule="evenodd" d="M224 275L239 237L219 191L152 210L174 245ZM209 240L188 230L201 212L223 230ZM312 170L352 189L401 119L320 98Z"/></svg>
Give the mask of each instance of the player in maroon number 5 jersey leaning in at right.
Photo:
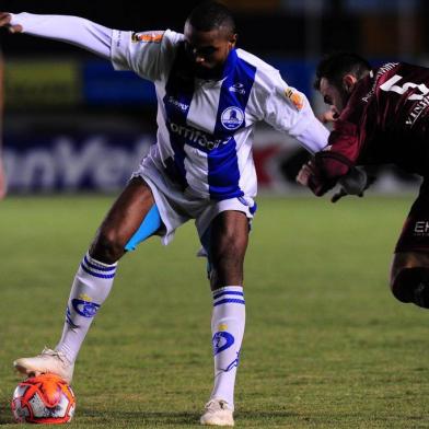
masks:
<svg viewBox="0 0 429 429"><path fill-rule="evenodd" d="M429 309L429 69L387 62L372 70L355 54L336 53L317 68L315 86L331 105L334 130L326 150L298 181L317 196L339 181L335 199L368 187L356 165L394 164L422 177L396 243L390 286L401 302ZM351 188L348 187L351 185Z"/></svg>

